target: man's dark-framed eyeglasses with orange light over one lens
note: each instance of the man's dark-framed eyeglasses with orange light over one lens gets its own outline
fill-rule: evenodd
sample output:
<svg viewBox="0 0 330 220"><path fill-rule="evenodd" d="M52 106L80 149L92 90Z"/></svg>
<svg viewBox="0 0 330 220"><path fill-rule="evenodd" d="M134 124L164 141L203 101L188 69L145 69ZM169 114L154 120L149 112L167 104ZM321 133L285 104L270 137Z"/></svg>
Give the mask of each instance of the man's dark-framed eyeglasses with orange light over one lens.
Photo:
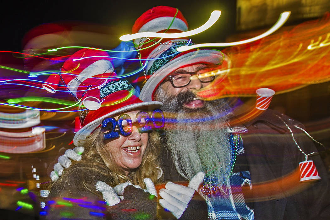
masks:
<svg viewBox="0 0 330 220"><path fill-rule="evenodd" d="M203 69L197 70L195 72L179 72L175 74L171 74L165 79L165 81L170 80L173 87L180 88L188 85L193 79L194 75L196 75L197 79L201 82L211 82L215 79L215 75L218 72L218 66L214 67L205 67ZM164 82L165 82L164 81Z"/></svg>

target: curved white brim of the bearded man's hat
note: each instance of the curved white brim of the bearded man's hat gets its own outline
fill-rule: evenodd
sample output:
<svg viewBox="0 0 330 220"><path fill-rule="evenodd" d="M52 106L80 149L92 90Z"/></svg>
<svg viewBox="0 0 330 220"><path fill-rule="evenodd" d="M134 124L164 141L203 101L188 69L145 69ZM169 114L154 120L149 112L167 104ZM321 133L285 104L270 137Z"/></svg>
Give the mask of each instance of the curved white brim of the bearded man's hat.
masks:
<svg viewBox="0 0 330 220"><path fill-rule="evenodd" d="M172 73L179 67L186 66L188 64L193 65L203 62L213 64L221 63L221 61L223 60L223 55L228 62L228 69L230 69L231 62L228 56L218 50L196 50L169 61L151 75L150 79L143 86L139 98L144 102L153 101L152 96L153 93L156 91L156 86L158 86L158 84L163 81L163 79L165 79L170 73Z"/></svg>

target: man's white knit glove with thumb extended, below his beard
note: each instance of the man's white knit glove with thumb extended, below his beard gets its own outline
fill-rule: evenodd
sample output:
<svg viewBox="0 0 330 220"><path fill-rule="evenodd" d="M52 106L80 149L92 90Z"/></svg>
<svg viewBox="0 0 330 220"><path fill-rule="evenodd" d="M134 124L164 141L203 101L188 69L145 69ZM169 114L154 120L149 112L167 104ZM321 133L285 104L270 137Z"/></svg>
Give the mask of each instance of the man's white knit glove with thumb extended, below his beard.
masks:
<svg viewBox="0 0 330 220"><path fill-rule="evenodd" d="M176 218L180 218L204 177L203 172L197 173L191 178L188 187L173 182L166 183L165 189L159 190L159 195L162 197L159 204L171 211Z"/></svg>

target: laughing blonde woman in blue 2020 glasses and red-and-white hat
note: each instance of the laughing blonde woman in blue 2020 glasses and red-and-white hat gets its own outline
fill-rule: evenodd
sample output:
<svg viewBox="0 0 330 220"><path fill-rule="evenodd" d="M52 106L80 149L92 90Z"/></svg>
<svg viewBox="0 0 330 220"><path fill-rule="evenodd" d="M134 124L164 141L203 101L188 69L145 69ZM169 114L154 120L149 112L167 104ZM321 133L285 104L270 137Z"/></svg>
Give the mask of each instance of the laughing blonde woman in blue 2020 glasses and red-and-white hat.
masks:
<svg viewBox="0 0 330 220"><path fill-rule="evenodd" d="M50 177L57 181L49 186L48 219L156 217L154 182L162 172L158 168L160 138L154 130L165 123L157 109L162 103L142 102L133 86L116 76L107 55L81 49L43 84L55 93L63 87L61 83L70 92L66 94L83 104L82 128L73 142L76 151L84 152L67 150L54 165ZM72 165L68 158L74 159Z"/></svg>

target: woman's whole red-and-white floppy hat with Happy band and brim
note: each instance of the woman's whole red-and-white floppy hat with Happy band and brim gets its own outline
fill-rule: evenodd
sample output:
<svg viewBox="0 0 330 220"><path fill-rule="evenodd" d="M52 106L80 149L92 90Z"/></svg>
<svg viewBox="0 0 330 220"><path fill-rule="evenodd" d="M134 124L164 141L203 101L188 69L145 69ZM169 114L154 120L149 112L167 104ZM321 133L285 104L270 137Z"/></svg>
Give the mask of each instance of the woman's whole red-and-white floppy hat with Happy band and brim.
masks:
<svg viewBox="0 0 330 220"><path fill-rule="evenodd" d="M141 101L127 80L117 78L112 60L107 56L103 51L81 49L64 62L60 73L51 75L43 84L47 91L55 92L61 80L76 99L83 100L79 111L82 128L73 139L76 146L83 146L86 138L107 117L136 108L153 109L162 105L161 102Z"/></svg>

